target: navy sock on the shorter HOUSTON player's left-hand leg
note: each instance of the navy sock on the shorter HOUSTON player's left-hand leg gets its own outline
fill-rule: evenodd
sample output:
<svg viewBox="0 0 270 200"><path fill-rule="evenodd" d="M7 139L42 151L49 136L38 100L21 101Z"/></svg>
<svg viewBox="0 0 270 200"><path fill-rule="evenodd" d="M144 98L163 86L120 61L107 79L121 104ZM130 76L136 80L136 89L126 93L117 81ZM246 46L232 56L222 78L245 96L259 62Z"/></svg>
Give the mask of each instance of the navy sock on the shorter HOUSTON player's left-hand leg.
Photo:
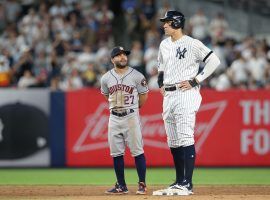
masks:
<svg viewBox="0 0 270 200"><path fill-rule="evenodd" d="M115 175L117 178L117 182L119 185L125 186L125 164L124 164L124 156L117 156L113 158L113 167L115 171Z"/></svg>

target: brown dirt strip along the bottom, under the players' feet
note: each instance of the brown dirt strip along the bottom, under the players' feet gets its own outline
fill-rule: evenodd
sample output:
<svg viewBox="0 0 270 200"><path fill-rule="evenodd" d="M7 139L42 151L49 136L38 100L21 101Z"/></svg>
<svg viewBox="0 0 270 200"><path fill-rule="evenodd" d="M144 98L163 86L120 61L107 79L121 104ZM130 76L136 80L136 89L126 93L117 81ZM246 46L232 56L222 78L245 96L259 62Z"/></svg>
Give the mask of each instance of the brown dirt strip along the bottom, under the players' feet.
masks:
<svg viewBox="0 0 270 200"><path fill-rule="evenodd" d="M270 199L270 186L196 186L190 196L152 196L161 186L149 186L148 195L135 195L137 187L130 186L127 195L106 195L107 186L0 186L0 199L67 199L67 200L266 200Z"/></svg>

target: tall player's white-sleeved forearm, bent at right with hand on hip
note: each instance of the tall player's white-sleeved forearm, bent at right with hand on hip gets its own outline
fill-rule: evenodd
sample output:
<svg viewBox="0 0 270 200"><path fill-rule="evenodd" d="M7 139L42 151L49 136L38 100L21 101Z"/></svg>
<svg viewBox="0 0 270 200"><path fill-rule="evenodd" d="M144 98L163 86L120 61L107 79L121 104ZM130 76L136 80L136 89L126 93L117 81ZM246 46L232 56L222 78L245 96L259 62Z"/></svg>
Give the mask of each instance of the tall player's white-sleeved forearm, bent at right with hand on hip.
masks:
<svg viewBox="0 0 270 200"><path fill-rule="evenodd" d="M218 67L220 64L219 58L212 53L210 57L207 59L206 64L202 70L201 73L199 73L195 79L198 83L201 83L203 80L205 80L207 77L209 77Z"/></svg>

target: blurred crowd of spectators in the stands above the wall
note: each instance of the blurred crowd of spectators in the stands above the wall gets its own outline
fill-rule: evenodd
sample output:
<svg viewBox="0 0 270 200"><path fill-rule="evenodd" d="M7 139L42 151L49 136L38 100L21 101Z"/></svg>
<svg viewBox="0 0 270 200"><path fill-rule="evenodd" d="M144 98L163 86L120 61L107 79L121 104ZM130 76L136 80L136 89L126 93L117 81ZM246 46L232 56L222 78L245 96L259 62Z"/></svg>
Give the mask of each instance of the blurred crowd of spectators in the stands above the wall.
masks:
<svg viewBox="0 0 270 200"><path fill-rule="evenodd" d="M173 9L155 0L0 1L0 87L72 90L100 85L111 69L110 50L131 50L129 65L158 89L157 54L163 39L159 18ZM222 13L211 19L199 9L186 19L186 34L220 58L221 65L202 87L270 88L270 47L253 36L230 37ZM201 66L201 68L203 65Z"/></svg>

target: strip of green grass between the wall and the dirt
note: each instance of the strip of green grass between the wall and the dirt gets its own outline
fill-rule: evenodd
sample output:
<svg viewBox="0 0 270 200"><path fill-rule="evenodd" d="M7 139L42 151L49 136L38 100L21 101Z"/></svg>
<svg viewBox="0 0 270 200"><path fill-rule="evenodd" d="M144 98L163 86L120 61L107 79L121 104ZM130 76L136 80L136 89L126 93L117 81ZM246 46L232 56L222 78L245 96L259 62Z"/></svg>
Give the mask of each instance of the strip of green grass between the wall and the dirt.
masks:
<svg viewBox="0 0 270 200"><path fill-rule="evenodd" d="M135 169L125 170L126 182L137 183ZM172 168L150 168L147 183L168 185L174 180ZM198 185L270 185L267 168L198 168L194 171ZM113 169L0 169L0 185L111 185Z"/></svg>

